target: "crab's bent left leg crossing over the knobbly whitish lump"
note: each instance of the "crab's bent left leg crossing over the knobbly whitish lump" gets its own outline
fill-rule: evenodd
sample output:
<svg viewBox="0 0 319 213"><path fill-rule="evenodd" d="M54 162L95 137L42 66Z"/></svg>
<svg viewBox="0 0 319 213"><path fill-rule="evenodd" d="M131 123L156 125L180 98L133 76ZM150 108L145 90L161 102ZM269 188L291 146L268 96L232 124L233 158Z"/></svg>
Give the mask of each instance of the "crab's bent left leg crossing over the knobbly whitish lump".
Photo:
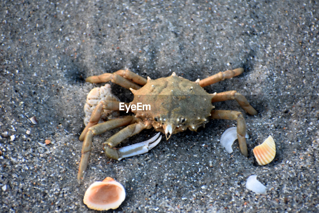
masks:
<svg viewBox="0 0 319 213"><path fill-rule="evenodd" d="M128 103L124 103L124 104L129 106ZM107 100L107 101L101 101L98 105L96 105L96 107L94 108L94 110L92 112L90 122L86 125L85 129L82 131L82 133L79 137L79 140L84 140L84 137L85 137L87 131L89 130L89 128L94 126L95 124L97 124L99 122L100 117L101 117L101 113L104 109L119 111L120 110L120 102Z"/></svg>

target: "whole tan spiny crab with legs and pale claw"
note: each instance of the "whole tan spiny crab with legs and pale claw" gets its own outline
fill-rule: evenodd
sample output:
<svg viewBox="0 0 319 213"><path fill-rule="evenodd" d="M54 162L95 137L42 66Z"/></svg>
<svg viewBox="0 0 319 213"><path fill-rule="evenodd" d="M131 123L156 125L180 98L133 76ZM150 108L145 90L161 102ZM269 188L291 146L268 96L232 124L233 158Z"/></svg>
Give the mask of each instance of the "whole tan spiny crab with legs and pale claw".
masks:
<svg viewBox="0 0 319 213"><path fill-rule="evenodd" d="M255 115L257 111L237 91L209 94L203 89L203 87L210 84L240 75L243 71L243 68L226 70L202 80L197 79L195 82L177 76L174 72L168 77L155 80L152 80L150 77L145 79L129 70L118 70L114 73L87 77L86 81L90 83L111 81L130 89L134 94L134 99L130 103L102 100L95 107L90 122L79 137L79 140L84 141L78 170L78 180L83 177L83 173L86 170L93 136L121 126L126 127L102 143L108 158L121 160L125 157L147 153L156 146L162 138L162 136L159 137L159 133L147 141L119 149L115 148L124 139L136 135L144 129L153 127L156 131L165 133L168 140L172 134L187 129L197 131L199 127L204 127L209 122L208 119L237 120L237 136L240 151L241 154L247 157L246 123L242 113L233 110L213 110L215 107L212 103L235 99L248 114ZM139 85L142 85L142 87ZM138 106L139 103L146 106L149 105L150 107L140 107L140 110L138 107L129 108L129 106ZM123 105L128 109L128 112L135 115L121 116L97 124L103 110L123 110Z"/></svg>

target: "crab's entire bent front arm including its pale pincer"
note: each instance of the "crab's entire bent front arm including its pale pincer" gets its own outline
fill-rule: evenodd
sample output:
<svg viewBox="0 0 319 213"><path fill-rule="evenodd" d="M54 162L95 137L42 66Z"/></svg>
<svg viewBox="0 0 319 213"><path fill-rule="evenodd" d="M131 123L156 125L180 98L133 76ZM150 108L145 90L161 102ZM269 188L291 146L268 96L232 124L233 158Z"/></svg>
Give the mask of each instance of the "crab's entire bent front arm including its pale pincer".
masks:
<svg viewBox="0 0 319 213"><path fill-rule="evenodd" d="M134 155L147 153L154 146L156 146L161 140L162 137L159 137L159 139L157 139L159 134L156 135L156 137L151 138L150 140L147 140L138 144L125 146L120 149L115 149L114 147L117 146L126 138L136 135L142 130L148 129L148 128L150 128L150 126L145 126L143 123L133 123L125 127L124 129L120 130L115 135L108 138L108 140L102 144L105 150L105 155L111 159L121 160L122 158L125 158L125 157L131 157Z"/></svg>

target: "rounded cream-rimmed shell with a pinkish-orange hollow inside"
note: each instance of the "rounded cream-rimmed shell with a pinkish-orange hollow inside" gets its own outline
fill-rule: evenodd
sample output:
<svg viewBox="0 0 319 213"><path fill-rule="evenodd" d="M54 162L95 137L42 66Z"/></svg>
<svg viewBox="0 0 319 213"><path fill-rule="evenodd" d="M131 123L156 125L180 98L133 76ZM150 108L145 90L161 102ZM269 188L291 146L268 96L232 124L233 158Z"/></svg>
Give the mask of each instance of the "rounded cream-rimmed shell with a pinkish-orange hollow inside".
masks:
<svg viewBox="0 0 319 213"><path fill-rule="evenodd" d="M90 209L102 211L118 208L124 199L125 189L122 184L107 177L89 186L84 194L83 202Z"/></svg>

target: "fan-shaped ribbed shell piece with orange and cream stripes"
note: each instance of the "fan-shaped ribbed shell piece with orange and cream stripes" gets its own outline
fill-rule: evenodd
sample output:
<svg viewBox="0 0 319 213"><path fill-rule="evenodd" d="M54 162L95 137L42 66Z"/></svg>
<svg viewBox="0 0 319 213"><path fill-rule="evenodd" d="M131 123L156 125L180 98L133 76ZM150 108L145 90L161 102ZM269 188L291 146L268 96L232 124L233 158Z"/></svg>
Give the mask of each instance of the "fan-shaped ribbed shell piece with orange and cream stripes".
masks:
<svg viewBox="0 0 319 213"><path fill-rule="evenodd" d="M275 141L271 136L253 150L255 158L260 166L270 163L276 155Z"/></svg>

